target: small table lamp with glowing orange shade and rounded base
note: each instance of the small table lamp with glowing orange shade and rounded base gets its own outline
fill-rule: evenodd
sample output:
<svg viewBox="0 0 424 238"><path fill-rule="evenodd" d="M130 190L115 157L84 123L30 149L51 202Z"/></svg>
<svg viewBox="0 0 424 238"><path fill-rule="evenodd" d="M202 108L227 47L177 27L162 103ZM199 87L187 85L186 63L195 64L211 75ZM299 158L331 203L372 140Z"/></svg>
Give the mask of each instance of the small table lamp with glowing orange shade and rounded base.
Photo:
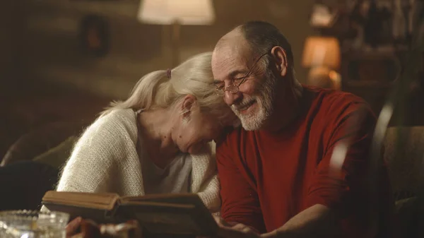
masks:
<svg viewBox="0 0 424 238"><path fill-rule="evenodd" d="M307 37L303 49L302 66L311 68L307 78L310 85L341 89L340 46L334 37Z"/></svg>

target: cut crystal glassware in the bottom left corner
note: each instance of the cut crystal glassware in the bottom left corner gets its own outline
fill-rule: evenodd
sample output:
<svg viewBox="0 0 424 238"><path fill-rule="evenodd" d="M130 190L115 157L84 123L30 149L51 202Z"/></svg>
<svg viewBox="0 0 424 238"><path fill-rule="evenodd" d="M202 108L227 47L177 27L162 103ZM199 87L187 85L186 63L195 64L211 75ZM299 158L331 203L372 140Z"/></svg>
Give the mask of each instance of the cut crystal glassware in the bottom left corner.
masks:
<svg viewBox="0 0 424 238"><path fill-rule="evenodd" d="M0 212L1 238L66 238L67 213L11 210Z"/></svg>

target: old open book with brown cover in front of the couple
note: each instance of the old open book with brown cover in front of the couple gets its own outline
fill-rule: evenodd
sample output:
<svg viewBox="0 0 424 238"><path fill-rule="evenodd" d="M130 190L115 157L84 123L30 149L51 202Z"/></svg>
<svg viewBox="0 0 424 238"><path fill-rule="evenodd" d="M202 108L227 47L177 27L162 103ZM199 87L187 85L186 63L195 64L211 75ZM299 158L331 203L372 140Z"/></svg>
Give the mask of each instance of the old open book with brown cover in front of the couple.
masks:
<svg viewBox="0 0 424 238"><path fill-rule="evenodd" d="M89 194L47 191L42 205L49 210L81 216L95 222L138 220L152 234L214 236L218 225L196 194L158 194L119 197L117 194Z"/></svg>

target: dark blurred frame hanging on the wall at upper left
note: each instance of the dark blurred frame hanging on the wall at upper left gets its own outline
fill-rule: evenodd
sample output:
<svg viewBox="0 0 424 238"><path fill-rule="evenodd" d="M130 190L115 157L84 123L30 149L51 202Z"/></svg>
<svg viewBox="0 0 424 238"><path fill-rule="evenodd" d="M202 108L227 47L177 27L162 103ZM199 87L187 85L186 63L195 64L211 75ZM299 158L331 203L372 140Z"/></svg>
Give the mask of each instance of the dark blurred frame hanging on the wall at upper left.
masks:
<svg viewBox="0 0 424 238"><path fill-rule="evenodd" d="M105 17L88 15L80 25L79 40L83 53L102 57L110 49L110 25Z"/></svg>

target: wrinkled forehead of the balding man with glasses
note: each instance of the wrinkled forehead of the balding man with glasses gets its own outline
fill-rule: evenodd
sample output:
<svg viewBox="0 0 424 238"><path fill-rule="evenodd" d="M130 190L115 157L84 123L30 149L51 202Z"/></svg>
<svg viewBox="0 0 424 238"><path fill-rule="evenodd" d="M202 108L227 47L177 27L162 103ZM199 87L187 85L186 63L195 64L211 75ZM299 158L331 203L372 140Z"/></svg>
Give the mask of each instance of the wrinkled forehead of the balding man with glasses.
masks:
<svg viewBox="0 0 424 238"><path fill-rule="evenodd" d="M232 72L245 71L250 60L250 50L240 42L225 42L217 46L212 54L213 77L225 81Z"/></svg>

